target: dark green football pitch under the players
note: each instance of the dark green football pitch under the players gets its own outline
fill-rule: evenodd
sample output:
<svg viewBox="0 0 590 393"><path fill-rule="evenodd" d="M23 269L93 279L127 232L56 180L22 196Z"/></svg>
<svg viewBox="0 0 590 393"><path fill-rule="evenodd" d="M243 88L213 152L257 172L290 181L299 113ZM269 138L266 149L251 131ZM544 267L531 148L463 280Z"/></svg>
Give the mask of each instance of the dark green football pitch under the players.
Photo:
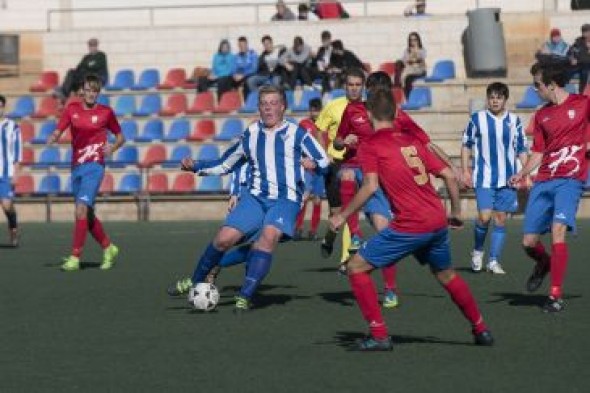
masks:
<svg viewBox="0 0 590 393"><path fill-rule="evenodd" d="M221 273L210 313L166 287L192 272L218 223L106 223L121 248L98 269L59 271L72 224L25 224L17 250L0 248L1 392L588 392L590 221L570 237L566 310L541 313L524 292L532 263L512 221L506 276L473 274L472 227L453 232L455 266L470 284L496 345L472 345L467 322L427 268L400 263L400 306L384 310L395 348L349 348L367 330L336 259L317 242L279 246L246 315L233 314L243 267ZM367 231L370 233L370 231ZM4 233L2 233L4 235ZM335 253L336 254L336 253ZM374 274L381 287L380 275Z"/></svg>

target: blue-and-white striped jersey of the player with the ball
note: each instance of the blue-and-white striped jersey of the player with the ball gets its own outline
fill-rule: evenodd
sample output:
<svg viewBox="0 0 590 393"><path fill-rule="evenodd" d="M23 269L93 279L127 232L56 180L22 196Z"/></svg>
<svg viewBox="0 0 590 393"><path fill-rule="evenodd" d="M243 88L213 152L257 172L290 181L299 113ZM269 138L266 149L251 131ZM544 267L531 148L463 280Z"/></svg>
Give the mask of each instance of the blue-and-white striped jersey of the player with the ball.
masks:
<svg viewBox="0 0 590 393"><path fill-rule="evenodd" d="M305 129L285 120L276 130L269 131L258 121L213 165L198 162L194 169L199 175L222 175L247 161L252 195L301 203L305 191L303 157L314 160L320 171L328 167L326 153Z"/></svg>

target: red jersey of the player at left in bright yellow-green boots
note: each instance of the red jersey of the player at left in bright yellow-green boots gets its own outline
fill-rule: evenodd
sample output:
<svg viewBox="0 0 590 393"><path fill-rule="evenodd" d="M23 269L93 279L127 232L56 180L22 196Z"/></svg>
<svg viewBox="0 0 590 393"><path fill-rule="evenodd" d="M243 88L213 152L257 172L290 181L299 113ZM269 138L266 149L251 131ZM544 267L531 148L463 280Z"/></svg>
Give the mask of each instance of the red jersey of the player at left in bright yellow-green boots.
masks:
<svg viewBox="0 0 590 393"><path fill-rule="evenodd" d="M121 132L121 126L113 110L96 104L86 109L81 102L72 102L59 119L57 128L72 134L72 166L87 162L104 165L103 148L107 143L107 130L113 134Z"/></svg>

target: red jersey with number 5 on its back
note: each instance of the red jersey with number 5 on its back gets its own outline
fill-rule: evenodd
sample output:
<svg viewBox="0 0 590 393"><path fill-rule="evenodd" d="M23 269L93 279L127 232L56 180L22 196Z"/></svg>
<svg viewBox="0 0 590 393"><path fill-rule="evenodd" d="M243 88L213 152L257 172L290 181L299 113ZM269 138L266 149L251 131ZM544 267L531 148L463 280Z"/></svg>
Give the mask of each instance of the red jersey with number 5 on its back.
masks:
<svg viewBox="0 0 590 393"><path fill-rule="evenodd" d="M378 130L359 148L364 174L376 173L394 213L389 226L407 233L435 232L447 226L442 201L430 182L446 165L420 138L393 128Z"/></svg>

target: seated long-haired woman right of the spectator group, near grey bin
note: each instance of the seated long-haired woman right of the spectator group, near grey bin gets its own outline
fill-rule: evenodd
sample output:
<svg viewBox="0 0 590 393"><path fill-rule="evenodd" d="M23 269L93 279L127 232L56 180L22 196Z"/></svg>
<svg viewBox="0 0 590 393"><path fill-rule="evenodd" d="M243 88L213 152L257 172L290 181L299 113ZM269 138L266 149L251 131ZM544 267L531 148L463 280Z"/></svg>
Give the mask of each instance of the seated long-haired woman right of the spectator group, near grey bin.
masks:
<svg viewBox="0 0 590 393"><path fill-rule="evenodd" d="M394 85L399 86L399 78L402 78L404 93L406 97L409 97L414 81L426 76L426 49L422 47L422 39L415 31L408 35L408 47L404 50L401 61L398 61L396 65ZM399 78L397 78L398 75Z"/></svg>

